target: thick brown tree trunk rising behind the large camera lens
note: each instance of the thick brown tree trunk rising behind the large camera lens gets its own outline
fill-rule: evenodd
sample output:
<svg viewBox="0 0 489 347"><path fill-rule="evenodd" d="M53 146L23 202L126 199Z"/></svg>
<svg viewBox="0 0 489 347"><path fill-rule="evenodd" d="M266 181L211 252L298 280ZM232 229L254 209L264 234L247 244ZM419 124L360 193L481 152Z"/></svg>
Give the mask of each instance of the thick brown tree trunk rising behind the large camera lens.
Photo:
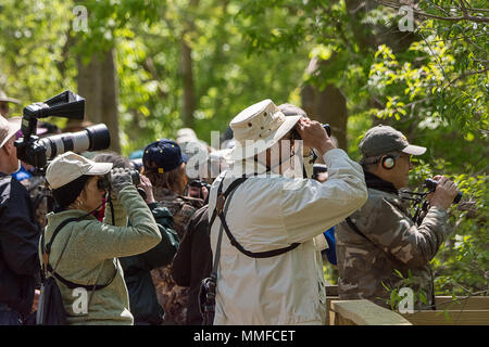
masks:
<svg viewBox="0 0 489 347"><path fill-rule="evenodd" d="M110 150L120 153L118 137L118 80L114 50L93 55L85 65L78 59L78 94L86 99L85 119L103 123L111 133ZM76 124L70 121L68 125Z"/></svg>

